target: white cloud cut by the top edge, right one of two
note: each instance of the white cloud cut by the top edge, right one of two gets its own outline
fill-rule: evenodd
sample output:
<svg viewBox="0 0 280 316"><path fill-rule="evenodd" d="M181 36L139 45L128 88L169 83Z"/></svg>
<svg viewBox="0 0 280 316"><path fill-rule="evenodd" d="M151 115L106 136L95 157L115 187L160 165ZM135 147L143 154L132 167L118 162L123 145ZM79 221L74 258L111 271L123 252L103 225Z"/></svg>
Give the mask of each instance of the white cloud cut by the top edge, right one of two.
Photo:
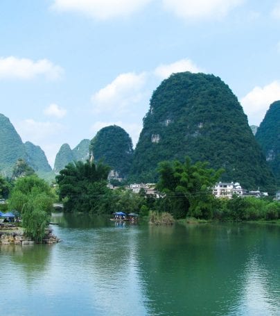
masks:
<svg viewBox="0 0 280 316"><path fill-rule="evenodd" d="M223 17L243 0L163 0L166 10L189 19Z"/></svg>

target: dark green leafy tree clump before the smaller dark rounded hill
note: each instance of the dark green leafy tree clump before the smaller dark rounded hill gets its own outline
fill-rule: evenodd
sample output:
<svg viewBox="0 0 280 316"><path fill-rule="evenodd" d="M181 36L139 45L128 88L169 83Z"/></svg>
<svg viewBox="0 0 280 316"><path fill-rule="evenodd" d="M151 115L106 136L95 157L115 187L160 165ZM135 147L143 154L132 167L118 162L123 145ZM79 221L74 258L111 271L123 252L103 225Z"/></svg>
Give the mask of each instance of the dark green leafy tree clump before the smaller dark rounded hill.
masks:
<svg viewBox="0 0 280 316"><path fill-rule="evenodd" d="M67 212L106 213L111 190L107 188L110 167L87 160L69 163L56 176L59 197Z"/></svg>

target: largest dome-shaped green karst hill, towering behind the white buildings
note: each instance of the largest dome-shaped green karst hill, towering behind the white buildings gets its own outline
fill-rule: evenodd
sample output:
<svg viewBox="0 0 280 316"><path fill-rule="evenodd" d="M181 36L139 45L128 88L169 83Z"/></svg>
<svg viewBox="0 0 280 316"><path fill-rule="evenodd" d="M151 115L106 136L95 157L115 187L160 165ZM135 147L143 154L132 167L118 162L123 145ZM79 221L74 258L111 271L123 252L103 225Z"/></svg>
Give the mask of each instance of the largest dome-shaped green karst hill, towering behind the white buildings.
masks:
<svg viewBox="0 0 280 316"><path fill-rule="evenodd" d="M222 181L244 188L267 188L274 178L238 99L220 78L177 73L152 94L135 149L130 178L157 181L163 160L208 161L225 169Z"/></svg>

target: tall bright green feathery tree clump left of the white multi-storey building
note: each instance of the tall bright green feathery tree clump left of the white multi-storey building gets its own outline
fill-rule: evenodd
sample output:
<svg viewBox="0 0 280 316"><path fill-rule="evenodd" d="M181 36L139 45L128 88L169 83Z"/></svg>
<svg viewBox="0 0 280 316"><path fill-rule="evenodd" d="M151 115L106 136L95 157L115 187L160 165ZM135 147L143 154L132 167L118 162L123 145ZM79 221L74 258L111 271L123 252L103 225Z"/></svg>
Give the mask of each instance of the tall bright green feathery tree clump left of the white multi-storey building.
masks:
<svg viewBox="0 0 280 316"><path fill-rule="evenodd" d="M161 192L159 201L164 210L180 218L186 215L211 217L212 188L223 170L209 169L208 163L191 164L186 157L184 163L178 160L159 163L159 182Z"/></svg>

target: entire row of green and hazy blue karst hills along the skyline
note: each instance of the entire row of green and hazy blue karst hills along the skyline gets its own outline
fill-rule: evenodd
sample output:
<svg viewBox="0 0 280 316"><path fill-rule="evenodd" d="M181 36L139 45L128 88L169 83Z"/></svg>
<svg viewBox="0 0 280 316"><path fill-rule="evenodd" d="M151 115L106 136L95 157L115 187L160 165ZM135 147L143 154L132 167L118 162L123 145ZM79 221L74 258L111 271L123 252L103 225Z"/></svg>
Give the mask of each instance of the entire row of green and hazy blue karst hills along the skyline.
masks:
<svg viewBox="0 0 280 316"><path fill-rule="evenodd" d="M123 128L107 126L74 149L62 144L54 172L44 151L30 142L24 144L8 117L0 115L0 170L9 176L17 159L23 158L37 173L54 178L65 165L85 161L91 152L95 160L103 159L129 181L154 182L157 163L190 156L193 162L209 161L210 167L224 168L224 181L238 181L245 188L272 188L274 176L279 177L279 103L270 106L254 138L254 126L251 130L243 108L220 78L173 74L152 94L135 151Z"/></svg>

